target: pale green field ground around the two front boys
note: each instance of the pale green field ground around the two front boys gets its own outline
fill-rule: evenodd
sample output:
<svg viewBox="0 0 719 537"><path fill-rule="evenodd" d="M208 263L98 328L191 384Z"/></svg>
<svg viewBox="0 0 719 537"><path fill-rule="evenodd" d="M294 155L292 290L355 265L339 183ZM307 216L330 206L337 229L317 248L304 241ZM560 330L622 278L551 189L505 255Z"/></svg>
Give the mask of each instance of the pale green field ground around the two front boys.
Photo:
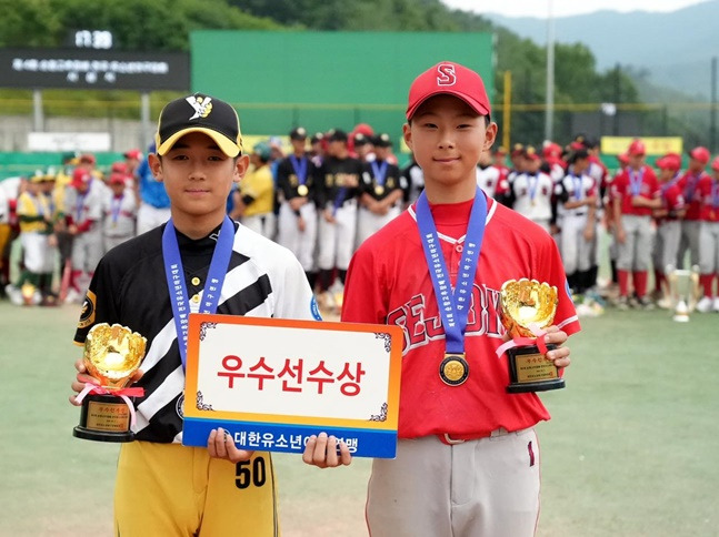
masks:
<svg viewBox="0 0 719 537"><path fill-rule="evenodd" d="M79 306L0 302L0 535L111 535L117 446L76 439ZM567 389L542 396L542 537L719 535L719 315L582 321ZM369 460L276 456L286 537L367 535Z"/></svg>

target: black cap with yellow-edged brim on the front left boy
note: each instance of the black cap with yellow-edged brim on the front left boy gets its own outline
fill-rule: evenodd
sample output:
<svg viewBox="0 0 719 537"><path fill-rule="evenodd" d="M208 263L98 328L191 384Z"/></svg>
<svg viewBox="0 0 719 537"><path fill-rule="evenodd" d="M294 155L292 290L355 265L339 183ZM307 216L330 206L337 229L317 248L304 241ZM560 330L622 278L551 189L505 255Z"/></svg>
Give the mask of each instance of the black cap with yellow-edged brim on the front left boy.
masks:
<svg viewBox="0 0 719 537"><path fill-rule="evenodd" d="M237 112L230 104L213 97L194 93L164 105L154 135L158 154L166 154L174 142L191 132L207 134L228 156L237 156L242 152L242 133Z"/></svg>

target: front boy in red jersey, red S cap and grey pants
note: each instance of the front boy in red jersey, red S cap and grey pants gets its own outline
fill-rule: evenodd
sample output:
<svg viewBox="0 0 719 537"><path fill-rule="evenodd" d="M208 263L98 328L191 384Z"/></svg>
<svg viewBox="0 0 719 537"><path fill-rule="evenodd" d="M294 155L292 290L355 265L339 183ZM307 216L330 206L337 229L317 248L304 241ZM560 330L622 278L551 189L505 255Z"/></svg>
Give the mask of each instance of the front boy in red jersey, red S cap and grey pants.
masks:
<svg viewBox="0 0 719 537"><path fill-rule="evenodd" d="M415 80L403 135L425 172L425 193L369 237L349 268L342 320L405 333L400 440L396 459L373 463L372 537L522 537L537 525L533 426L549 414L536 394L506 391L508 365L496 355L505 338L499 290L521 277L558 287L549 343L565 343L579 322L551 236L477 186L479 155L497 135L489 115L481 78L460 64L439 63ZM461 383L439 374L458 344L468 371ZM567 347L548 357L569 365Z"/></svg>

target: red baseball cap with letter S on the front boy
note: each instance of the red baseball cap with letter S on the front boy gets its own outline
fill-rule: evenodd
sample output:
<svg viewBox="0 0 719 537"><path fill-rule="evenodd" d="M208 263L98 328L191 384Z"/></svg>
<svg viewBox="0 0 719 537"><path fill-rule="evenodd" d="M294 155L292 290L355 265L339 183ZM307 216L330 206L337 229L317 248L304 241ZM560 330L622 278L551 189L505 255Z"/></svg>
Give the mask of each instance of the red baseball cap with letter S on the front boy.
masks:
<svg viewBox="0 0 719 537"><path fill-rule="evenodd" d="M411 120L417 109L430 97L455 95L471 107L479 115L489 115L491 107L485 82L471 69L442 61L415 79L409 88L407 119Z"/></svg>

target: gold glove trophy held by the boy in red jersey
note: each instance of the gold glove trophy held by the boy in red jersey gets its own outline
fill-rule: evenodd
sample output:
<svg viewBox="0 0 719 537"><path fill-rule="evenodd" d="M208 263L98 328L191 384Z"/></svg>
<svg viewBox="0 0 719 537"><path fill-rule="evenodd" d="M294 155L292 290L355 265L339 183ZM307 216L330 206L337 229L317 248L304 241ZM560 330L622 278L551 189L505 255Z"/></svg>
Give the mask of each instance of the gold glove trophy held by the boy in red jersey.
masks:
<svg viewBox="0 0 719 537"><path fill-rule="evenodd" d="M512 337L497 351L499 355L506 352L509 362L507 392L563 388L559 369L547 359L547 351L557 346L542 338L557 313L557 287L536 280L510 280L502 285L499 303L502 324Z"/></svg>

